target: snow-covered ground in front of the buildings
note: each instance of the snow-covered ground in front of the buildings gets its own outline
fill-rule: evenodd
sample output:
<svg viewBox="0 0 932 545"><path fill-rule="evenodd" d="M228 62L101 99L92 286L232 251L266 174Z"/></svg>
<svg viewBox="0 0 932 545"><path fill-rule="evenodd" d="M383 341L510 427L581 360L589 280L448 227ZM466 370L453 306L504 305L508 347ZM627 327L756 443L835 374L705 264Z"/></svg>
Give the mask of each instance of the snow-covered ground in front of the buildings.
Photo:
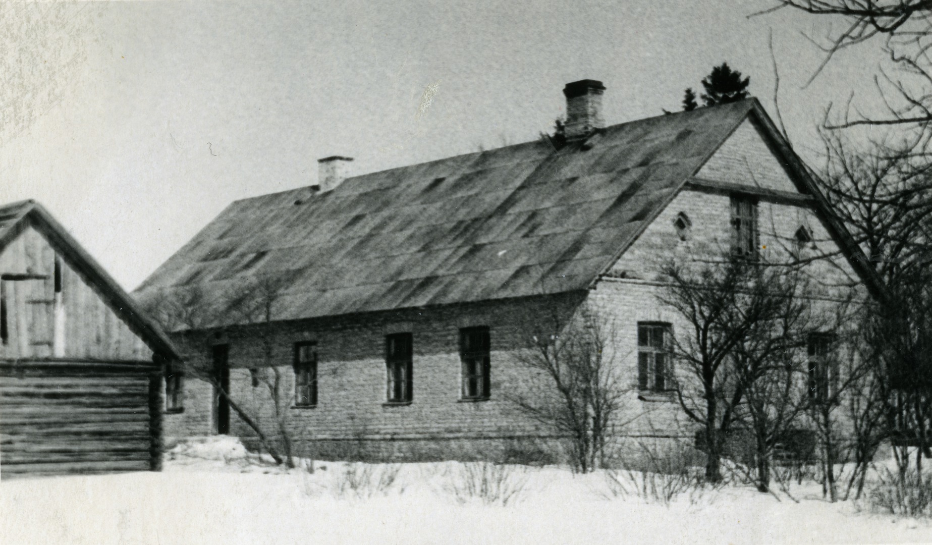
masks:
<svg viewBox="0 0 932 545"><path fill-rule="evenodd" d="M830 504L817 486L793 489L799 503L728 487L666 506L555 468L317 462L311 474L228 438L168 457L161 473L3 482L0 543L932 543L929 521ZM492 504L468 490L480 470L492 492L503 484Z"/></svg>

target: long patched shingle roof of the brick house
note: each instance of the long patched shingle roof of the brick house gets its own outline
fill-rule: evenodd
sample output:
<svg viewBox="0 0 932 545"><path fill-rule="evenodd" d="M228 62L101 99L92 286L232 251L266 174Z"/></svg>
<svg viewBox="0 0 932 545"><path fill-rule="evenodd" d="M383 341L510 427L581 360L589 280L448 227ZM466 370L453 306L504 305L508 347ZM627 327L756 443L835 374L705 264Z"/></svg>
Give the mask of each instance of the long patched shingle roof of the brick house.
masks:
<svg viewBox="0 0 932 545"><path fill-rule="evenodd" d="M197 290L218 327L257 282L273 320L585 290L747 116L773 128L751 99L239 200L136 293Z"/></svg>

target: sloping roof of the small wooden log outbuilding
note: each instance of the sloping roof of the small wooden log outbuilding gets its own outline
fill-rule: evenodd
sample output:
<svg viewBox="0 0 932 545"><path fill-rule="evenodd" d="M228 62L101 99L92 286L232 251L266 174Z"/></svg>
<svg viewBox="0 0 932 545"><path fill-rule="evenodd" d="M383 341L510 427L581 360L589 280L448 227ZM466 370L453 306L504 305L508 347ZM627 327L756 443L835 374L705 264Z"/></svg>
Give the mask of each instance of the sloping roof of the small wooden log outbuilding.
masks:
<svg viewBox="0 0 932 545"><path fill-rule="evenodd" d="M0 252L17 238L27 227L40 232L55 252L84 279L93 284L103 300L117 312L130 329L140 335L145 344L158 354L175 358L176 352L168 336L147 318L129 294L119 287L117 281L98 265L77 243L75 238L34 200L22 200L0 205Z"/></svg>

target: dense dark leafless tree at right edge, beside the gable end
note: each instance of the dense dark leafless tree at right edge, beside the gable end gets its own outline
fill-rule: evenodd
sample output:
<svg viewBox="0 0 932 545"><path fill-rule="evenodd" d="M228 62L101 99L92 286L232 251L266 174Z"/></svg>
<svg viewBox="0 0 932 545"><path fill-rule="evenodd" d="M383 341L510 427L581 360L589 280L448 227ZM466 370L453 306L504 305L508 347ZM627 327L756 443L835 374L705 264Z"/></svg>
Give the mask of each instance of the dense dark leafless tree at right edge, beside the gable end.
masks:
<svg viewBox="0 0 932 545"><path fill-rule="evenodd" d="M906 475L910 447L921 475L932 437L932 166L922 138L857 146L823 135L822 190L868 256L880 284L864 315L863 350L882 364L890 439Z"/></svg>

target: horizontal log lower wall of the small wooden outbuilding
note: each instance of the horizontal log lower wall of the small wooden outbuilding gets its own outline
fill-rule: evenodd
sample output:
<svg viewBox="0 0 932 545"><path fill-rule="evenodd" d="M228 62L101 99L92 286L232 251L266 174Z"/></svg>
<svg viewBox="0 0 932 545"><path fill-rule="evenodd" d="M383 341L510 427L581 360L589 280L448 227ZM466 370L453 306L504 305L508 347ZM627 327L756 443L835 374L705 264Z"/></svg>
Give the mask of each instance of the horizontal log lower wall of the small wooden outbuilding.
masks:
<svg viewBox="0 0 932 545"><path fill-rule="evenodd" d="M158 469L159 394L151 361L0 361L0 476Z"/></svg>

